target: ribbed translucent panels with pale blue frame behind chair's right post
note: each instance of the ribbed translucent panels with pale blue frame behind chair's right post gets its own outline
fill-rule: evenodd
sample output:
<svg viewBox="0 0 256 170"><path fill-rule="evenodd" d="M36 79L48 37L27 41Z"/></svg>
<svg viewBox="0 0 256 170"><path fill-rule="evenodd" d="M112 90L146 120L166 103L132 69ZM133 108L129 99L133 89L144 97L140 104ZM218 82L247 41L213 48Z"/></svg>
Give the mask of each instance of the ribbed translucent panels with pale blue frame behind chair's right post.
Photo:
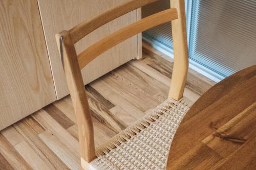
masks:
<svg viewBox="0 0 256 170"><path fill-rule="evenodd" d="M192 1L187 18L191 60L224 77L256 64L256 0L187 1ZM142 9L143 16L168 8L168 2L158 1ZM143 36L172 47L169 27L159 26Z"/></svg>

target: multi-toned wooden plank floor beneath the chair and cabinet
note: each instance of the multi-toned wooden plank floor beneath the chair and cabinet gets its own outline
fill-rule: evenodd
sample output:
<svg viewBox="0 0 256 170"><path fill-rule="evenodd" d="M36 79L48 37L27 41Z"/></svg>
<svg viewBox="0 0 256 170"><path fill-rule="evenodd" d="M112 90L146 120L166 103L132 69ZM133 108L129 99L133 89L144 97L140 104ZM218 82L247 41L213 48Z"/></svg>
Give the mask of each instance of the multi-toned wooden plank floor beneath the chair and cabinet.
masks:
<svg viewBox="0 0 256 170"><path fill-rule="evenodd" d="M143 59L130 61L86 86L96 146L167 98L172 61L144 44ZM185 96L196 101L215 82L189 70ZM70 96L0 133L0 169L79 169L78 134Z"/></svg>

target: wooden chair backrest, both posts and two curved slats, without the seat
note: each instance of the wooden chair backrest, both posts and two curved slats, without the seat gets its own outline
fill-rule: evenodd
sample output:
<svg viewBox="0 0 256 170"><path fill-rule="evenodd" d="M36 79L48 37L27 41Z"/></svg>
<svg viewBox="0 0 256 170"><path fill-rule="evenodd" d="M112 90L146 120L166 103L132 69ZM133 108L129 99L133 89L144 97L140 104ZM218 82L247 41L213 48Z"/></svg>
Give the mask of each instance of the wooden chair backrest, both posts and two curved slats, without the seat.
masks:
<svg viewBox="0 0 256 170"><path fill-rule="evenodd" d="M106 36L82 53L76 54L74 44L84 36L121 15L156 1L130 0L80 23L69 31L62 31L56 34L61 61L77 117L81 162L90 162L95 158L92 117L82 80L81 69L111 47L147 29L161 25L164 22L172 21L174 68L168 96L175 100L182 98L188 70L184 0L170 0L170 9L134 22Z"/></svg>

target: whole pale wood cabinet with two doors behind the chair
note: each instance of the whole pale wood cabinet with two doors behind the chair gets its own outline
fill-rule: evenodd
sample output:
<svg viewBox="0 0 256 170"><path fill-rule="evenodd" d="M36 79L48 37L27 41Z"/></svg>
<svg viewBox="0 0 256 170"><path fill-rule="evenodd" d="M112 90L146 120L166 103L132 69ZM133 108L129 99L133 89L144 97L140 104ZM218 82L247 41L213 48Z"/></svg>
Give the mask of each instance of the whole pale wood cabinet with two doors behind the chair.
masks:
<svg viewBox="0 0 256 170"><path fill-rule="evenodd" d="M55 34L124 1L0 1L0 130L69 94ZM139 18L135 10L104 25L76 44L78 53ZM84 84L140 57L137 35L84 68Z"/></svg>

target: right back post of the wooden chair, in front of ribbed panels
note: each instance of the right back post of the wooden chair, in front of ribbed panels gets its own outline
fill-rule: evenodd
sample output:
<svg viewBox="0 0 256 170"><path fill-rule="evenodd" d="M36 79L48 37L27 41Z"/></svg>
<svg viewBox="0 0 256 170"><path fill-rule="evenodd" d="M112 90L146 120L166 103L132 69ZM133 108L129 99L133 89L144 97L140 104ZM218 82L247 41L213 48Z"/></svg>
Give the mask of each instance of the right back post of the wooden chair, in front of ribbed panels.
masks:
<svg viewBox="0 0 256 170"><path fill-rule="evenodd" d="M170 0L170 8L177 9L178 19L172 20L174 67L168 98L172 98L178 101L183 96L188 71L188 50L184 0Z"/></svg>

